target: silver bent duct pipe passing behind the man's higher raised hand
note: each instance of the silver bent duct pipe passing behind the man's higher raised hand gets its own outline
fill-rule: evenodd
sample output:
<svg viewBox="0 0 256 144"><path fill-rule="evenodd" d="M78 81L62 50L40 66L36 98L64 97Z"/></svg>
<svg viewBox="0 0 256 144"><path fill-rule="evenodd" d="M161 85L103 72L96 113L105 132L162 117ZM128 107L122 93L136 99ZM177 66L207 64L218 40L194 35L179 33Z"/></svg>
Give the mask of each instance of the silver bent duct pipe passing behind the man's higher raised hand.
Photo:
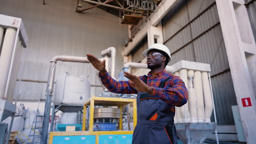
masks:
<svg viewBox="0 0 256 144"><path fill-rule="evenodd" d="M101 52L103 57L105 58L99 58L100 61L103 61L106 59L106 65L109 64L108 56L111 56L111 76L114 76L115 72L115 56L116 56L116 49L114 47L109 47L108 49L105 49ZM105 54L105 55L104 55ZM108 54L108 55L106 55ZM50 61L50 70L49 70L49 76L48 76L48 83L47 83L47 98L44 106L44 120L43 120L43 129L42 129L42 137L41 137L41 143L46 144L47 143L47 135L48 135L48 127L49 127L49 120L50 120L50 109L51 109L51 97L53 94L53 84L55 79L55 72L56 72L56 63L57 61L69 61L69 62L82 62L82 63L90 63L90 61L87 59L87 57L78 57L78 56L54 56ZM108 69L108 67L106 67Z"/></svg>

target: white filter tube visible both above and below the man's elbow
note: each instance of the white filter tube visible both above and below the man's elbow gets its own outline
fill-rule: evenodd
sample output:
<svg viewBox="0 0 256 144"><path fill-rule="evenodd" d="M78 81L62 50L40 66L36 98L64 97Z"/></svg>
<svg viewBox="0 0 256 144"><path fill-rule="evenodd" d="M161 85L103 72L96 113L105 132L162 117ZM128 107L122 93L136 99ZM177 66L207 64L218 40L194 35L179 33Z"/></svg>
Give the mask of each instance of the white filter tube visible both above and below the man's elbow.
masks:
<svg viewBox="0 0 256 144"><path fill-rule="evenodd" d="M180 70L180 78L183 80L183 82L185 83L185 86L187 87L188 84L187 84L187 70L186 69ZM187 104L184 104L184 106L182 106L181 114L182 114L182 118L183 118L184 122L186 122L186 121L191 122L188 102L187 102Z"/></svg>

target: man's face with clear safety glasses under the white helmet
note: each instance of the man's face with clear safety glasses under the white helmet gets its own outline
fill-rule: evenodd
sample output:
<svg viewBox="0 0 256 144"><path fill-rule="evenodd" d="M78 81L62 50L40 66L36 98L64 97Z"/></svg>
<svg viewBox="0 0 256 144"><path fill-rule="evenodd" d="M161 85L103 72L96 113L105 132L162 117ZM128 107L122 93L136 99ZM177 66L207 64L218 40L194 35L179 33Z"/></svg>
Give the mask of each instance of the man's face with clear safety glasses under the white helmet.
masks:
<svg viewBox="0 0 256 144"><path fill-rule="evenodd" d="M161 67L162 63L163 63L162 54L161 55L157 54L157 55L151 56L153 53L161 54L160 52L157 52L157 51L151 51L148 53L147 64L148 64L148 68L151 70Z"/></svg>

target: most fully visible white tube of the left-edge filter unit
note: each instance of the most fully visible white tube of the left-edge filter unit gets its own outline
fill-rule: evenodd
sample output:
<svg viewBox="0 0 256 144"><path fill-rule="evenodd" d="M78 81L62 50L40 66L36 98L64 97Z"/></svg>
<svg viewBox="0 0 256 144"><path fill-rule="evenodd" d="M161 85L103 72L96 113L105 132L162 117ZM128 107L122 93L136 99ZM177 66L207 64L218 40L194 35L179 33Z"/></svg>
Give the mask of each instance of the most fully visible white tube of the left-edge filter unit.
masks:
<svg viewBox="0 0 256 144"><path fill-rule="evenodd" d="M7 28L5 32L5 38L0 57L0 98L5 97L5 89L7 86L8 75L12 61L16 33L16 30L13 28Z"/></svg>

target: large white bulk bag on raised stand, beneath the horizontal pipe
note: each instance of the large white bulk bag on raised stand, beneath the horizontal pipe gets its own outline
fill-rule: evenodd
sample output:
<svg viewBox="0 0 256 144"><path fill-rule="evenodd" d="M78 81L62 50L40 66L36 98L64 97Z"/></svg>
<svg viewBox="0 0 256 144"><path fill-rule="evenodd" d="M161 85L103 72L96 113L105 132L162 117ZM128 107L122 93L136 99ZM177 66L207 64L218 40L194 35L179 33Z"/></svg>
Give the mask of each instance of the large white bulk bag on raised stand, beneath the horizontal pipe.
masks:
<svg viewBox="0 0 256 144"><path fill-rule="evenodd" d="M90 98L90 82L85 76L75 77L69 73L56 78L54 104L83 105Z"/></svg>

